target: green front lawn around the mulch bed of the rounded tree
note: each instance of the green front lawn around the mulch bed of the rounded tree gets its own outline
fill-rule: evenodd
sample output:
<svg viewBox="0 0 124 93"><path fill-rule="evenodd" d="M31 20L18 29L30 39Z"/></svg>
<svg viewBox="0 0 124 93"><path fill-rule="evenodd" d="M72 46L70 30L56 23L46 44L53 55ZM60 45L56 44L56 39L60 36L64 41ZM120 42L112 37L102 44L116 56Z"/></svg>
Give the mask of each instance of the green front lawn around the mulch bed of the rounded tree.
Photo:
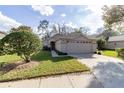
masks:
<svg viewBox="0 0 124 93"><path fill-rule="evenodd" d="M8 59L6 59L6 57ZM17 56L15 57L15 55L11 57L5 56L5 58L3 56L3 59L0 59L0 62L11 62L13 60L20 60L20 58ZM86 65L79 63L72 57L52 58L51 53L48 51L39 52L32 57L32 60L38 61L40 64L37 67L28 70L11 70L3 75L1 74L0 81L89 71L89 68Z"/></svg>

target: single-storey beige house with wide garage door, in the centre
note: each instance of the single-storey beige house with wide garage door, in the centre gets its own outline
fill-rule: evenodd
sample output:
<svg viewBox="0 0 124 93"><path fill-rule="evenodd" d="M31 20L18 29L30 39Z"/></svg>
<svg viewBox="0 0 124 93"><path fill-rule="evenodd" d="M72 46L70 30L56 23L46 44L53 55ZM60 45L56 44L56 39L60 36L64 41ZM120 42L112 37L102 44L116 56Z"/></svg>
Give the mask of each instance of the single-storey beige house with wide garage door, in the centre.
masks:
<svg viewBox="0 0 124 93"><path fill-rule="evenodd" d="M97 48L95 39L78 32L68 35L56 34L49 39L43 40L43 45L64 53L93 53Z"/></svg>

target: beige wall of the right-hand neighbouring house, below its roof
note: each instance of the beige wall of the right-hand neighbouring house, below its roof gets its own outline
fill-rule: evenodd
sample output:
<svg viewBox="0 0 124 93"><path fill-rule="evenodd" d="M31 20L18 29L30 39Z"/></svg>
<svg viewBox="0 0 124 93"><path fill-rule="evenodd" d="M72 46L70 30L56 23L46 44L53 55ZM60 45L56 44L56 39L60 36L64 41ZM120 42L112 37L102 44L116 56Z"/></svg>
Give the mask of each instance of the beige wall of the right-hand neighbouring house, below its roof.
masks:
<svg viewBox="0 0 124 93"><path fill-rule="evenodd" d="M124 41L108 42L106 48L108 49L124 48Z"/></svg>

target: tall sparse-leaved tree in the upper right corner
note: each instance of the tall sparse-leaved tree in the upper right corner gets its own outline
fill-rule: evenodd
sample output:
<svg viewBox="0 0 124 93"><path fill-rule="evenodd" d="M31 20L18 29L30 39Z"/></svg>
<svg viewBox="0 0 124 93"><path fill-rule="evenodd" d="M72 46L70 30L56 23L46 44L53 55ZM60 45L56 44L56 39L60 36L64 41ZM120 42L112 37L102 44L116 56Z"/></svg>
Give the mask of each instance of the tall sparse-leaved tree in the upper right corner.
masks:
<svg viewBox="0 0 124 93"><path fill-rule="evenodd" d="M104 6L103 8L103 20L106 30L113 31L115 28L118 31L122 30L124 24L124 6L123 5L112 5L110 7ZM124 25L123 25L124 26Z"/></svg>

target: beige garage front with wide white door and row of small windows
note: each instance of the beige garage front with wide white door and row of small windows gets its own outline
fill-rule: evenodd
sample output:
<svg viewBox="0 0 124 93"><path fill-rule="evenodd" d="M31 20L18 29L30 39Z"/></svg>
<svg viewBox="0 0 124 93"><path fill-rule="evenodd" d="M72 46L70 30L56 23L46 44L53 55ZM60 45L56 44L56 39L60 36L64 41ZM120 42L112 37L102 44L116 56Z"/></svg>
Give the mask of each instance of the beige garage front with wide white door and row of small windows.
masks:
<svg viewBox="0 0 124 93"><path fill-rule="evenodd" d="M59 40L56 42L56 49L65 53L91 53L95 52L96 48L97 44L95 41L87 40L85 38L83 40Z"/></svg>

